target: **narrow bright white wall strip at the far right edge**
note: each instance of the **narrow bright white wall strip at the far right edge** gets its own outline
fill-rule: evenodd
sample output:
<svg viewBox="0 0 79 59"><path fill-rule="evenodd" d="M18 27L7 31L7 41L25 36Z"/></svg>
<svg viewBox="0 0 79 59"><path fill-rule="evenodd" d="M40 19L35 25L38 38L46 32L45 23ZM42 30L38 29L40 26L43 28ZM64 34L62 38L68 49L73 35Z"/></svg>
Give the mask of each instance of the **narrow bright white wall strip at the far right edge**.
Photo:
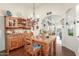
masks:
<svg viewBox="0 0 79 59"><path fill-rule="evenodd" d="M76 5L76 40L77 40L76 55L79 56L79 4Z"/></svg>

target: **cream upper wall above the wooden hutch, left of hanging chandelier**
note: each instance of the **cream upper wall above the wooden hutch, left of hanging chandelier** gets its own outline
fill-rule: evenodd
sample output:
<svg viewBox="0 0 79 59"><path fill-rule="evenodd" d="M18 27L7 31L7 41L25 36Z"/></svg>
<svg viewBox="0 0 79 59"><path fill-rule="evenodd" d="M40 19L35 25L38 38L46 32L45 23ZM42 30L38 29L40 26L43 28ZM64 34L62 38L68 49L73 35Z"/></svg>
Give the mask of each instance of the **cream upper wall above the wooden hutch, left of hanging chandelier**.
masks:
<svg viewBox="0 0 79 59"><path fill-rule="evenodd" d="M4 14L4 11L10 10L14 17L21 16L27 18L32 14L32 5L22 3L2 3L0 4L0 15Z"/></svg>

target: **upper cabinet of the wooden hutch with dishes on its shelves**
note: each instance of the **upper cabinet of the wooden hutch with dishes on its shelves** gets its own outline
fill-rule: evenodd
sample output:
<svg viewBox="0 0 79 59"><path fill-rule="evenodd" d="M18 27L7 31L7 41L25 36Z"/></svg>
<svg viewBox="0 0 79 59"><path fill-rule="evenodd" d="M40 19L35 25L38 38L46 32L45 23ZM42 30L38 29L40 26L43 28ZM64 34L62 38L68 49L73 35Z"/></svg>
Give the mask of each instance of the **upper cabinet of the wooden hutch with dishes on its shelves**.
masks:
<svg viewBox="0 0 79 59"><path fill-rule="evenodd" d="M6 16L5 17L5 23L6 23L6 28L8 29L31 29L32 22L30 19L24 19L24 18L17 18L17 17L11 17L11 16Z"/></svg>

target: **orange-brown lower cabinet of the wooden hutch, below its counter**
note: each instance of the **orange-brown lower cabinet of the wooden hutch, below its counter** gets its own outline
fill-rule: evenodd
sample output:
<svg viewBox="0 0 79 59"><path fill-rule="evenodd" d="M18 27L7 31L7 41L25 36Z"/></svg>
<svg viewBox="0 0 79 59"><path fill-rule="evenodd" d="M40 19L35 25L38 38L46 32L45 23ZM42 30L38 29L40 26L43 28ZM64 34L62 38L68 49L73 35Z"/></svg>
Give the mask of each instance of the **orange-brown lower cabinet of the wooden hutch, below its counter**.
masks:
<svg viewBox="0 0 79 59"><path fill-rule="evenodd" d="M19 36L8 36L8 49L13 50L23 46L23 38Z"/></svg>

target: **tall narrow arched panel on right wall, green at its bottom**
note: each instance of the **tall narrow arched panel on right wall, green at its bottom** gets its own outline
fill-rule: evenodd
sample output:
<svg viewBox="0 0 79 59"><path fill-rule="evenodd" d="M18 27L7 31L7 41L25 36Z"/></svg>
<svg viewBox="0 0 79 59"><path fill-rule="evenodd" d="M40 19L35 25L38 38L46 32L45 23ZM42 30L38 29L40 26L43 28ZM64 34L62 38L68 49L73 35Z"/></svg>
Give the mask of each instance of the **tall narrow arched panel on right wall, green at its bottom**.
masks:
<svg viewBox="0 0 79 59"><path fill-rule="evenodd" d="M75 26L75 19L74 16L72 16L72 9L68 10L66 13L66 26L68 30L68 36L74 36L74 26Z"/></svg>

